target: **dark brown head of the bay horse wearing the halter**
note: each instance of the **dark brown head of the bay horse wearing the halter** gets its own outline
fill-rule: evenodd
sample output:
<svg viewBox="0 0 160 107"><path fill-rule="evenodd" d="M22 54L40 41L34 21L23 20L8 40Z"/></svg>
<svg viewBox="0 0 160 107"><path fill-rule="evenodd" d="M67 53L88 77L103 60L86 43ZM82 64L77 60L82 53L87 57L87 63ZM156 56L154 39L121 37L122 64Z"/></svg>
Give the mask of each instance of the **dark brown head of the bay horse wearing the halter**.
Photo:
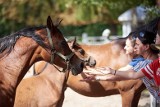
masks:
<svg viewBox="0 0 160 107"><path fill-rule="evenodd" d="M83 71L84 63L69 48L61 31L58 29L59 24L60 22L54 25L49 16L46 29L40 29L36 32L42 35L45 43L45 48L41 48L42 51L40 55L45 61L51 60L50 63L65 68L65 70L71 70L73 75L77 75Z"/></svg>

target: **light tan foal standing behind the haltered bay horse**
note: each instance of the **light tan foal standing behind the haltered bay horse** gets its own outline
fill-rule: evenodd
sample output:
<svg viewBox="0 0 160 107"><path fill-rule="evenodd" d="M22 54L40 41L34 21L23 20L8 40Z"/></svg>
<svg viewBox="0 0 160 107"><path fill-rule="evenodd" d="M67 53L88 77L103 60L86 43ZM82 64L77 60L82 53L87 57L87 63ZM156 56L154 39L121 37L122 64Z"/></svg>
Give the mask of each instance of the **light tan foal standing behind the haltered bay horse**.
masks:
<svg viewBox="0 0 160 107"><path fill-rule="evenodd" d="M72 51L84 61L85 65L94 66L95 60L75 43L75 40L68 42ZM20 82L16 90L14 106L61 107L62 103L58 103L58 101L64 97L62 92L65 90L69 72L59 72L59 67L44 61L35 63L34 68L36 74L39 75L23 79Z"/></svg>

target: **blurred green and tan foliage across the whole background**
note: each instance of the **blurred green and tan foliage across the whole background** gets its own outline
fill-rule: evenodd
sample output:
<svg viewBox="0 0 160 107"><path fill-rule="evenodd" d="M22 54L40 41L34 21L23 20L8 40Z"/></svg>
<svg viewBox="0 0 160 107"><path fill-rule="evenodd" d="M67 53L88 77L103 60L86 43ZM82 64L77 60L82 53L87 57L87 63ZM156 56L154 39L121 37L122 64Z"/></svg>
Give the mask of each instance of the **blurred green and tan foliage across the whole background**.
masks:
<svg viewBox="0 0 160 107"><path fill-rule="evenodd" d="M149 17L159 15L156 0L0 0L0 36L27 26L45 25L48 15L54 19L68 15L64 20L75 20L79 26L63 27L68 34L101 35L105 28L117 29L118 16L140 4L148 8Z"/></svg>

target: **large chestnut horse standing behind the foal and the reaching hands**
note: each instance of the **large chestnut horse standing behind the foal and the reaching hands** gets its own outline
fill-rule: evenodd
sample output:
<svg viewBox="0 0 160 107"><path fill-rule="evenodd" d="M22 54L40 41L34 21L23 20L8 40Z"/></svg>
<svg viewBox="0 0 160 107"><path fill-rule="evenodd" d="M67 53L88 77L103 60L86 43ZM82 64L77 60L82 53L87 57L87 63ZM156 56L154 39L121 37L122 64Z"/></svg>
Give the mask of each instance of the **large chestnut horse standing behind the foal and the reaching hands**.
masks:
<svg viewBox="0 0 160 107"><path fill-rule="evenodd" d="M140 29L149 30L154 33L158 31L160 35L160 17L137 29L137 32ZM96 59L96 66L109 66L118 69L129 62L124 54L124 43L125 39L122 39L99 46L81 45L81 47ZM76 77L69 75L67 86L79 94L90 97L102 97L120 93L122 107L137 107L141 92L145 89L144 84L139 79L117 82L80 82L84 77L83 73Z"/></svg>

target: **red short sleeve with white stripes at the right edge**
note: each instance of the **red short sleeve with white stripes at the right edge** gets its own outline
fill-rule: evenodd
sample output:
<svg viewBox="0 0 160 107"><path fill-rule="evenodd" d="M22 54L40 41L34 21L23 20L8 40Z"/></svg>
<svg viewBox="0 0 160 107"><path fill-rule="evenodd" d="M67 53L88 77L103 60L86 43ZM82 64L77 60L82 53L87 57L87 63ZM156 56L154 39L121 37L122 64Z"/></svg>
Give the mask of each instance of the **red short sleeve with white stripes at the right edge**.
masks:
<svg viewBox="0 0 160 107"><path fill-rule="evenodd" d="M156 70L158 69L158 64L159 64L159 60L156 59L151 64L148 64L146 67L141 69L141 71L144 73L144 75L147 78L152 79L154 76L154 72L156 72Z"/></svg>

